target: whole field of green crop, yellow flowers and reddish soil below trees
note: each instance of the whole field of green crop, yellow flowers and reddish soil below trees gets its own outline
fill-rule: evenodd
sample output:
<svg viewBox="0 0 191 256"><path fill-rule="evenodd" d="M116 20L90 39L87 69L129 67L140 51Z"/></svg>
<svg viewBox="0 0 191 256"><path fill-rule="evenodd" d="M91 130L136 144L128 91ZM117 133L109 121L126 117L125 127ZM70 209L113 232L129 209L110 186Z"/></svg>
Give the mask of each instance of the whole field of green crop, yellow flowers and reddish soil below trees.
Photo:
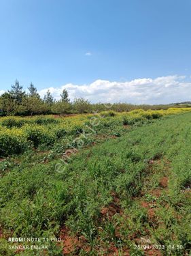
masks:
<svg viewBox="0 0 191 256"><path fill-rule="evenodd" d="M191 113L139 112L2 117L0 255L191 255Z"/></svg>

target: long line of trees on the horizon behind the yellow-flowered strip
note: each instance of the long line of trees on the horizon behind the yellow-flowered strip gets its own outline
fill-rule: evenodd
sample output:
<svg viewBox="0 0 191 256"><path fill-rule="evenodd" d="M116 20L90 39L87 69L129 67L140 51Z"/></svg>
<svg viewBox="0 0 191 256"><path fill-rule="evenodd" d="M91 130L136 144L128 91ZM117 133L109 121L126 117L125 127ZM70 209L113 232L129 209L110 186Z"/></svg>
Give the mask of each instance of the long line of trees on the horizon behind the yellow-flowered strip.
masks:
<svg viewBox="0 0 191 256"><path fill-rule="evenodd" d="M16 80L12 88L0 96L0 115L47 115L70 113L93 113L96 111L131 111L133 109L167 109L169 105L133 105L127 103L91 104L84 98L69 99L66 89L60 94L60 100L55 100L50 91L41 98L33 83L28 87L29 93Z"/></svg>

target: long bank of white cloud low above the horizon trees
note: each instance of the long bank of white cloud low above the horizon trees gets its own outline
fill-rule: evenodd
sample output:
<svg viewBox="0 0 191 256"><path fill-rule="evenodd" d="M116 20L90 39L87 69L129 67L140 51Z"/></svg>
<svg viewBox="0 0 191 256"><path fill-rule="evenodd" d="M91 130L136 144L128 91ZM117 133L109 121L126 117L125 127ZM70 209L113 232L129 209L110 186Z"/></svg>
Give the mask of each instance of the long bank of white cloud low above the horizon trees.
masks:
<svg viewBox="0 0 191 256"><path fill-rule="evenodd" d="M68 83L58 88L50 87L39 91L41 97L50 92L57 100L63 89L69 98L83 97L91 102L130 102L134 104L166 104L191 100L191 79L186 76L161 76L156 79L143 78L132 81L97 80L88 85Z"/></svg>

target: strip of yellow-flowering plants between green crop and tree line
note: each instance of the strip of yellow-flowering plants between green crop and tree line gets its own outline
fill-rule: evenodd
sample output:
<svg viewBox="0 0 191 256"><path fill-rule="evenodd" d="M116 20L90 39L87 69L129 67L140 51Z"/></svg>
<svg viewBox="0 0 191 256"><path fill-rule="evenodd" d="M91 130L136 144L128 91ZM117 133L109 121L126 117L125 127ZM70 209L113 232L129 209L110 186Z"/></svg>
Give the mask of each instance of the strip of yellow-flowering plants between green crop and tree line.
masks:
<svg viewBox="0 0 191 256"><path fill-rule="evenodd" d="M70 137L73 140L84 130L105 132L115 127L142 124L147 120L164 115L191 111L189 108L143 111L137 109L128 113L105 111L99 114L75 115L71 117L1 117L0 156L20 154L27 148L52 147L54 143Z"/></svg>

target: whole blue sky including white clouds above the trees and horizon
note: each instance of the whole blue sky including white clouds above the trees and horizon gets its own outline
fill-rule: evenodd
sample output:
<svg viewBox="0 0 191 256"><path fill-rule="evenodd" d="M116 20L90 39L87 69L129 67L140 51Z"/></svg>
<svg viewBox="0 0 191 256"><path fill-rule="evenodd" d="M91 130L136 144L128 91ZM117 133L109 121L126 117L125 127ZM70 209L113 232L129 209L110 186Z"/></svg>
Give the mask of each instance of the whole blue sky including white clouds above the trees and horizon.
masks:
<svg viewBox="0 0 191 256"><path fill-rule="evenodd" d="M0 0L0 94L191 100L190 0Z"/></svg>

